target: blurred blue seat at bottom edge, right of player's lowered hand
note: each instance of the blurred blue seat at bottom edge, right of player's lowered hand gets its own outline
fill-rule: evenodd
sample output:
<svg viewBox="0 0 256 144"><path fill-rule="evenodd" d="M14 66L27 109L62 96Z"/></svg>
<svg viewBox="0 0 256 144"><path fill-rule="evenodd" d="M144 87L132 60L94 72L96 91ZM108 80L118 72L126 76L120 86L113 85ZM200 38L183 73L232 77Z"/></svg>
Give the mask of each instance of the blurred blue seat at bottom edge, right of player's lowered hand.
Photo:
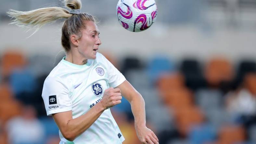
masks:
<svg viewBox="0 0 256 144"><path fill-rule="evenodd" d="M191 144L205 144L206 142L214 141L216 137L216 128L211 124L192 126L188 134Z"/></svg>

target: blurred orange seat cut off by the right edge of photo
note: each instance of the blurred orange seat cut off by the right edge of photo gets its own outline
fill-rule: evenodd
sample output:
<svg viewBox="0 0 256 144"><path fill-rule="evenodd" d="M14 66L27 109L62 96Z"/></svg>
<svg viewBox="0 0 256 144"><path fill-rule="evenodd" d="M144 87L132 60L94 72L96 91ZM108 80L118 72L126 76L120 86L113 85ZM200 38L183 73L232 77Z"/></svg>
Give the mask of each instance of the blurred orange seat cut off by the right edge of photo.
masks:
<svg viewBox="0 0 256 144"><path fill-rule="evenodd" d="M244 78L245 87L256 96L256 74L249 73Z"/></svg>

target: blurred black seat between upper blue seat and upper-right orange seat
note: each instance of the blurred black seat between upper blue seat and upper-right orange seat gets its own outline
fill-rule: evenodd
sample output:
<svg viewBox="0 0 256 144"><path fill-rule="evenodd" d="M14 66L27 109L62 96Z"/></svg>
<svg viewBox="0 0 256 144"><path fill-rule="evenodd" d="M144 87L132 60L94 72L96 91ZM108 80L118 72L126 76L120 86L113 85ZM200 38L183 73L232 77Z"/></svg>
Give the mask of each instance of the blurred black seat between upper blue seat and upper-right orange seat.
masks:
<svg viewBox="0 0 256 144"><path fill-rule="evenodd" d="M180 71L185 76L186 86L192 90L206 87L201 66L196 59L184 59Z"/></svg>

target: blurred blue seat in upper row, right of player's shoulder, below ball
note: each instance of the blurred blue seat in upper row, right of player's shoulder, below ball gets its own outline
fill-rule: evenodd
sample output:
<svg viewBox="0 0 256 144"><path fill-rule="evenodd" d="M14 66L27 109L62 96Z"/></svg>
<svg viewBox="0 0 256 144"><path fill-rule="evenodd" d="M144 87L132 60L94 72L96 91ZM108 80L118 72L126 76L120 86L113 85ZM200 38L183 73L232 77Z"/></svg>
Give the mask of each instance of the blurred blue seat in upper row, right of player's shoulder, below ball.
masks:
<svg viewBox="0 0 256 144"><path fill-rule="evenodd" d="M161 74L175 71L174 63L168 57L154 57L148 63L147 72L152 84L156 82Z"/></svg>

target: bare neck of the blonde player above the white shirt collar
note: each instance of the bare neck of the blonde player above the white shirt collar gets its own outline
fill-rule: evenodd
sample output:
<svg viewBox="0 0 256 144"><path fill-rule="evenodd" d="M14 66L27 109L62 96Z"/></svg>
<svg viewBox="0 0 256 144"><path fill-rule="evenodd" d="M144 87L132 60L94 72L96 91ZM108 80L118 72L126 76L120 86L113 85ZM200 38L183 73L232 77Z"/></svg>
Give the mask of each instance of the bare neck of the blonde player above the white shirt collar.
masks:
<svg viewBox="0 0 256 144"><path fill-rule="evenodd" d="M76 65L84 65L87 63L87 59L85 59L75 48L71 48L71 50L67 52L65 60Z"/></svg>

